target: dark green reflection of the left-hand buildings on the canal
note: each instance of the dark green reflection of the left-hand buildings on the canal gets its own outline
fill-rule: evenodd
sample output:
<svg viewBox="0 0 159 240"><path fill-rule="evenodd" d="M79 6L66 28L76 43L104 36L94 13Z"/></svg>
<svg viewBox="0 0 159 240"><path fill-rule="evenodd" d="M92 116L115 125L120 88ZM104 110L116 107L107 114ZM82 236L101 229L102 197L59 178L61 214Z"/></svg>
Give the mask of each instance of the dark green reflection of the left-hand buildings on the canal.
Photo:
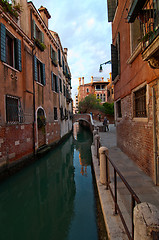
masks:
<svg viewBox="0 0 159 240"><path fill-rule="evenodd" d="M1 184L1 240L67 239L76 193L72 146L71 137Z"/></svg>

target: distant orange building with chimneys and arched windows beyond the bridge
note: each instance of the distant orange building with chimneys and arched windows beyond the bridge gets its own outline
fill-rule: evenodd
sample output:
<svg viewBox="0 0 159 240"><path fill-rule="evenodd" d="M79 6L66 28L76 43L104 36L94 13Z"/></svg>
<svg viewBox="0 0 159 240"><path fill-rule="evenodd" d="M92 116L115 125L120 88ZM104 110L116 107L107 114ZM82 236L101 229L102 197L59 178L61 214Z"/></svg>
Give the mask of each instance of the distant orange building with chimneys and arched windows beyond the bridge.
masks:
<svg viewBox="0 0 159 240"><path fill-rule="evenodd" d="M91 77L91 82L86 84L84 84L84 77L79 78L78 103L89 94L95 94L97 99L101 99L101 103L107 102L108 84L109 82L105 82L103 77Z"/></svg>

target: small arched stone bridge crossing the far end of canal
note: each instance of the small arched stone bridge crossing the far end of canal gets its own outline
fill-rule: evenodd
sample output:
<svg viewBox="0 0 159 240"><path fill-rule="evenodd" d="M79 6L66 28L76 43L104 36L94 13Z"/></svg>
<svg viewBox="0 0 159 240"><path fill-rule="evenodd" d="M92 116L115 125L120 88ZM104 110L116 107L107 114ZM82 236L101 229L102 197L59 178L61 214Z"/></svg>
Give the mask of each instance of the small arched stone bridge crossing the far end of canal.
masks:
<svg viewBox="0 0 159 240"><path fill-rule="evenodd" d="M94 130L94 123L91 114L83 113L83 114L74 114L73 115L73 123L79 122L83 126L89 127L91 131Z"/></svg>

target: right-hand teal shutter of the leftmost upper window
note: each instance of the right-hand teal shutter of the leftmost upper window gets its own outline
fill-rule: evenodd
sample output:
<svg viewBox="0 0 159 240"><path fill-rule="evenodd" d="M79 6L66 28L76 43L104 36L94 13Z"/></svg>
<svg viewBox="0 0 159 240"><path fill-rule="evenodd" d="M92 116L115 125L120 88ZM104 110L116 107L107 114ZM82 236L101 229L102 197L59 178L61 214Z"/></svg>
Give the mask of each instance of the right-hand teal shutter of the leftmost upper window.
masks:
<svg viewBox="0 0 159 240"><path fill-rule="evenodd" d="M21 41L15 38L15 68L22 71Z"/></svg>

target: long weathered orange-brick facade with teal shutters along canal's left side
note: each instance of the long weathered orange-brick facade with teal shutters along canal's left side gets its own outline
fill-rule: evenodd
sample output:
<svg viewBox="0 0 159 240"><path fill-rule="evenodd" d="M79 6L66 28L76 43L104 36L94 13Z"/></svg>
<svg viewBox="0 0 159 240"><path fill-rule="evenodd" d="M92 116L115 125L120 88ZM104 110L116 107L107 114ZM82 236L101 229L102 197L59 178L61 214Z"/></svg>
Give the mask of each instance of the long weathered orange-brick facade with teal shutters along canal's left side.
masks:
<svg viewBox="0 0 159 240"><path fill-rule="evenodd" d="M17 9L17 6L22 7ZM67 49L48 29L46 8L0 3L0 165L52 145L72 130Z"/></svg>

